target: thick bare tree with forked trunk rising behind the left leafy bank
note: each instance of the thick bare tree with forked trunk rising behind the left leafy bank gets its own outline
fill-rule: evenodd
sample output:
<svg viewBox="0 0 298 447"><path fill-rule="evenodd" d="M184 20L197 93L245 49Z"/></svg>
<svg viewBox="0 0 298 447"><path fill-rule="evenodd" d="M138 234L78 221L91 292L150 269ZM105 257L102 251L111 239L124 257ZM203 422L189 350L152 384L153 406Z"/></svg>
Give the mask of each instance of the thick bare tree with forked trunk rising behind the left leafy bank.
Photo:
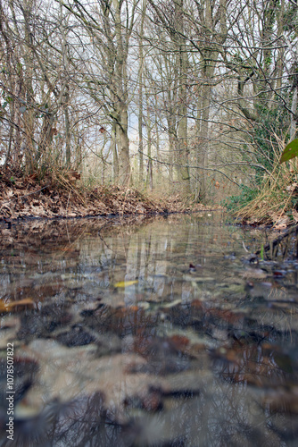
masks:
<svg viewBox="0 0 298 447"><path fill-rule="evenodd" d="M80 21L92 39L96 57L93 62L97 70L93 72L92 77L89 76L87 84L92 96L103 105L105 113L114 122L118 150L118 181L122 185L128 185L128 52L139 0L98 0L90 7L85 7L78 1L75 4L61 3Z"/></svg>

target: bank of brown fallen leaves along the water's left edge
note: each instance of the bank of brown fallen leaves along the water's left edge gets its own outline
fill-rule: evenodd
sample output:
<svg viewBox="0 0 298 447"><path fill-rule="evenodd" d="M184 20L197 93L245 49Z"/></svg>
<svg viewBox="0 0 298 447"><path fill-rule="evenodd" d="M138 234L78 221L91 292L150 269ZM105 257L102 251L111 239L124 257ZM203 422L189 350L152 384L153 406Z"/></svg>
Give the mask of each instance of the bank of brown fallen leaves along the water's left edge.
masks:
<svg viewBox="0 0 298 447"><path fill-rule="evenodd" d="M75 178L62 174L57 174L55 179L37 181L34 175L24 177L0 172L0 221L26 217L190 213L210 208L186 203L178 194L153 197L118 186L98 186L88 190L77 186Z"/></svg>

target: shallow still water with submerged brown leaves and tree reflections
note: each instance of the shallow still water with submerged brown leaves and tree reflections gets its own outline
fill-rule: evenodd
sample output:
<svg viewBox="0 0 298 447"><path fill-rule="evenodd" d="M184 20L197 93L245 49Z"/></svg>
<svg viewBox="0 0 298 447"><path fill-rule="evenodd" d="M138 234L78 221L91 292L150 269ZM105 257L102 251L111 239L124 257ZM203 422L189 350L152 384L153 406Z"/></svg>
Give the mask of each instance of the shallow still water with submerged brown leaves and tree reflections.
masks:
<svg viewBox="0 0 298 447"><path fill-rule="evenodd" d="M297 445L298 263L250 263L264 233L214 213L0 231L1 446Z"/></svg>

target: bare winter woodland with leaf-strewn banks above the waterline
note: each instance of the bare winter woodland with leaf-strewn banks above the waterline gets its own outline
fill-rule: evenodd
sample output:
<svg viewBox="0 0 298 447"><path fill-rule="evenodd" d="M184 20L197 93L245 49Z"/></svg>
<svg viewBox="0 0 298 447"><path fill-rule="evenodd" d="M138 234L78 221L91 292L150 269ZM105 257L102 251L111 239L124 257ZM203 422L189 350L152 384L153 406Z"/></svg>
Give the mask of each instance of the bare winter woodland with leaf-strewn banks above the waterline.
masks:
<svg viewBox="0 0 298 447"><path fill-rule="evenodd" d="M294 0L0 0L0 215L296 222L297 30Z"/></svg>

